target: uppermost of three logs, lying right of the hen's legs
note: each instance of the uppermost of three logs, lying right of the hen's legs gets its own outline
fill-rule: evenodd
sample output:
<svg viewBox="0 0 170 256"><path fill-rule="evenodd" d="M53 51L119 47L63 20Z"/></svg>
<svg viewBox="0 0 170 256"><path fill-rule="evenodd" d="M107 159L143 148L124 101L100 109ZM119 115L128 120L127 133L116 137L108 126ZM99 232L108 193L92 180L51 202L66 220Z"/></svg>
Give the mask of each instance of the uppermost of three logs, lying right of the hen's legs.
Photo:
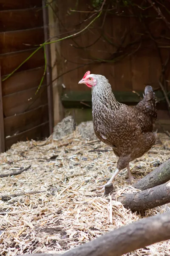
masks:
<svg viewBox="0 0 170 256"><path fill-rule="evenodd" d="M136 189L144 190L161 185L170 180L170 158L148 175L133 184Z"/></svg>

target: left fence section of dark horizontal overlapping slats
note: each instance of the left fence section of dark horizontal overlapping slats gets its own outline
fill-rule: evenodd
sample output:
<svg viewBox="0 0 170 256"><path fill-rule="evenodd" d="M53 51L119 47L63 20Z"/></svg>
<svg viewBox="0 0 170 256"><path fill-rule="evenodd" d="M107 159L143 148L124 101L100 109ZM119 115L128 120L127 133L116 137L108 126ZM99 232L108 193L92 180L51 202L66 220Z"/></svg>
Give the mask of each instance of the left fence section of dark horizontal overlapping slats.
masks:
<svg viewBox="0 0 170 256"><path fill-rule="evenodd" d="M44 42L42 10L41 0L0 0L0 151L49 135L46 77L35 95L44 73L43 47L3 81Z"/></svg>

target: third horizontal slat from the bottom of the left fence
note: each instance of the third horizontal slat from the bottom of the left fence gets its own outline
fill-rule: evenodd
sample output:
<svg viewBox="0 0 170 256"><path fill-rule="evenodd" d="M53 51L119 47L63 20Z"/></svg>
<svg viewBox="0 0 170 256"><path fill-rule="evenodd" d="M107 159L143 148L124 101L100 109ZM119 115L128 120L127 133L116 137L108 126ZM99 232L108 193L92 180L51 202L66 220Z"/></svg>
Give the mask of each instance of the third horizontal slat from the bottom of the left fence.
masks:
<svg viewBox="0 0 170 256"><path fill-rule="evenodd" d="M35 95L36 88L3 96L3 114L5 117L24 113L47 104L47 86L41 86Z"/></svg>

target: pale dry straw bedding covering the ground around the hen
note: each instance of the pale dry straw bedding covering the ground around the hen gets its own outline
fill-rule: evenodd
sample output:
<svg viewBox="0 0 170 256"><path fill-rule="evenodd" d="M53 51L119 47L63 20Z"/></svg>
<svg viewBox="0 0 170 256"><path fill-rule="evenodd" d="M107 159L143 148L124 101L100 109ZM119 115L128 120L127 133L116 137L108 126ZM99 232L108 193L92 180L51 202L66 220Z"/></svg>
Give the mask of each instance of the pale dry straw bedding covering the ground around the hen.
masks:
<svg viewBox="0 0 170 256"><path fill-rule="evenodd" d="M169 138L159 134L156 145L130 163L133 175L138 179L166 161L169 146ZM31 168L20 175L0 178L1 199L2 195L42 192L0 201L0 254L62 253L168 208L165 205L142 214L125 209L117 197L135 190L127 185L126 170L120 172L114 182L115 201L95 192L97 186L111 177L116 162L111 148L98 140L82 139L76 132L59 141L49 138L46 142L20 142L2 153L1 173L29 165ZM128 255L170 255L170 241Z"/></svg>

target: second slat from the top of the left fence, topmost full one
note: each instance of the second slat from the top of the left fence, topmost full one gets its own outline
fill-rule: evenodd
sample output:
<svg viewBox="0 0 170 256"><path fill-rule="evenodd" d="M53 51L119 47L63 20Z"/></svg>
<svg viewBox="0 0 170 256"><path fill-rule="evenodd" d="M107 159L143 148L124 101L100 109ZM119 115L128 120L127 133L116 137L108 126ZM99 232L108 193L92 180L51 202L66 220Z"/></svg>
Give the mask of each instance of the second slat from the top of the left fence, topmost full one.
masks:
<svg viewBox="0 0 170 256"><path fill-rule="evenodd" d="M41 8L0 11L0 32L43 26Z"/></svg>

